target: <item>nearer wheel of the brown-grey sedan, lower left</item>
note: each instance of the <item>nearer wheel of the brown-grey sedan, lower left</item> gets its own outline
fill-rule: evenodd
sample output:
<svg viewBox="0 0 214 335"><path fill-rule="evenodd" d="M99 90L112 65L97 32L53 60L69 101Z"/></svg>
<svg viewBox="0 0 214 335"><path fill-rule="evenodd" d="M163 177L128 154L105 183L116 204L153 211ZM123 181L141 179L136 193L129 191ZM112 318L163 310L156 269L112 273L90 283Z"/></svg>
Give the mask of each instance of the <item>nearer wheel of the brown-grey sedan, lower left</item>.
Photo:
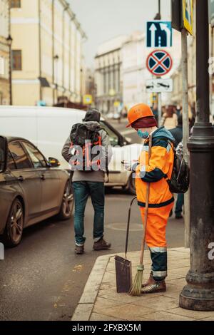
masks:
<svg viewBox="0 0 214 335"><path fill-rule="evenodd" d="M4 244L16 247L21 242L24 227L24 209L19 199L14 200L4 230Z"/></svg>

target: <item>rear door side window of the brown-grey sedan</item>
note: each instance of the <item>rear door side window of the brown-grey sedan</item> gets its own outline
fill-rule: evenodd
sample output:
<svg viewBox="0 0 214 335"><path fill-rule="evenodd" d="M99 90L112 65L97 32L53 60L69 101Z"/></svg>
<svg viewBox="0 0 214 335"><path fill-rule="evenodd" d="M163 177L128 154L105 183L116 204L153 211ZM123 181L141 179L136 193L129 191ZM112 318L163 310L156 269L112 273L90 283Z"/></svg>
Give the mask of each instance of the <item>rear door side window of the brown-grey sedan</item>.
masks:
<svg viewBox="0 0 214 335"><path fill-rule="evenodd" d="M19 142L9 143L9 150L11 152L12 158L14 158L17 169L32 168L31 161L29 160Z"/></svg>

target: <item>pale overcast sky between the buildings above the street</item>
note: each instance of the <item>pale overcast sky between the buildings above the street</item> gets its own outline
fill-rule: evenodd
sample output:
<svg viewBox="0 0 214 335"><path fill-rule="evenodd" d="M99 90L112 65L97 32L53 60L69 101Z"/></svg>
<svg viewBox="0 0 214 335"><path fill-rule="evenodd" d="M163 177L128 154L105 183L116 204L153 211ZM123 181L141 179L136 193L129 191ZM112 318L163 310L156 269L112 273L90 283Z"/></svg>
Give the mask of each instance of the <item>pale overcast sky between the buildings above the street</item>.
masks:
<svg viewBox="0 0 214 335"><path fill-rule="evenodd" d="M98 46L109 39L145 31L146 21L158 12L158 0L69 0L88 40L83 52L86 66L93 66ZM170 0L161 1L163 20L170 19Z"/></svg>

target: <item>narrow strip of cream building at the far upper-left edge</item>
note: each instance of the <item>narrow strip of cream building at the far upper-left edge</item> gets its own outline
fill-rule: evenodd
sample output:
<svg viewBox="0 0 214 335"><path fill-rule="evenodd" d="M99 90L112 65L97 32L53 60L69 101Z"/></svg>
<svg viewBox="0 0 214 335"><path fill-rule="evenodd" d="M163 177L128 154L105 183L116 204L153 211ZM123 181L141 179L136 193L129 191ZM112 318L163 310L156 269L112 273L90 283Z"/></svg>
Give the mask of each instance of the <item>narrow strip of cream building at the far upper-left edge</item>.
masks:
<svg viewBox="0 0 214 335"><path fill-rule="evenodd" d="M9 105L9 1L0 0L0 105Z"/></svg>

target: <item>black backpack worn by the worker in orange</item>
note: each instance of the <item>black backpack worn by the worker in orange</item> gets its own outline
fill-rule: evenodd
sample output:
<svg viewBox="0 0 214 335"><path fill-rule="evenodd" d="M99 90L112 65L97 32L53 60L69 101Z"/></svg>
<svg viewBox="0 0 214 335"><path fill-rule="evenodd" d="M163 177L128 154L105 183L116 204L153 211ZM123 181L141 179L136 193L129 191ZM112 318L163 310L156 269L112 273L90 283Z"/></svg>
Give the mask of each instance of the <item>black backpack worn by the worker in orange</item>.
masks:
<svg viewBox="0 0 214 335"><path fill-rule="evenodd" d="M169 141L168 143L170 144ZM170 146L174 152L173 172L171 178L169 179L165 176L165 180L168 182L170 192L185 193L188 191L190 185L190 169L183 156L178 155L175 148L171 144Z"/></svg>

